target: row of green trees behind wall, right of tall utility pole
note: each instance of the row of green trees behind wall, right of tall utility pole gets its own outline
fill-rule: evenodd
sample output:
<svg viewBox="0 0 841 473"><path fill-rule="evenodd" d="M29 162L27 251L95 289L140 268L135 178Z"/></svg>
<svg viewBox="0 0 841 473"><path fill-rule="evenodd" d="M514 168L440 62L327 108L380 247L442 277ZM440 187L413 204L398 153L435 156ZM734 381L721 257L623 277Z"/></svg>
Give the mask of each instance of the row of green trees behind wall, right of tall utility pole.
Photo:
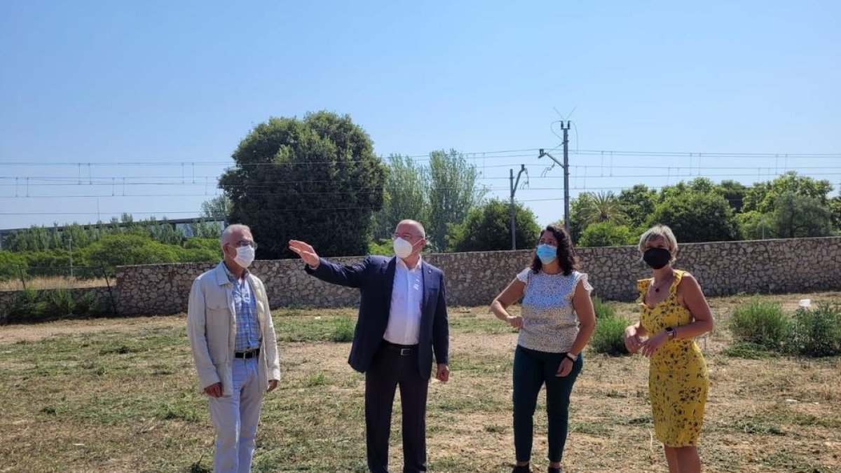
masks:
<svg viewBox="0 0 841 473"><path fill-rule="evenodd" d="M682 242L826 237L841 230L841 198L832 186L789 172L746 187L696 178L659 192L632 189L579 194L570 209L570 232L582 246L632 244L648 226L664 223Z"/></svg>

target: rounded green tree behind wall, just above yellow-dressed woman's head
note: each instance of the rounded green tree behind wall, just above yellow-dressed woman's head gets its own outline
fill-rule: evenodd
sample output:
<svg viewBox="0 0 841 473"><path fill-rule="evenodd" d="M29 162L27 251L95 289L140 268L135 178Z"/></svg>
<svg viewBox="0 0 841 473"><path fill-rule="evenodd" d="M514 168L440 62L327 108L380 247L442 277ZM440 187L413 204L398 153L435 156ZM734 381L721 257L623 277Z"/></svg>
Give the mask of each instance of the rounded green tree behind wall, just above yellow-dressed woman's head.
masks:
<svg viewBox="0 0 841 473"><path fill-rule="evenodd" d="M717 193L671 192L648 219L648 226L655 224L671 227L679 242L725 242L740 237L733 209Z"/></svg>

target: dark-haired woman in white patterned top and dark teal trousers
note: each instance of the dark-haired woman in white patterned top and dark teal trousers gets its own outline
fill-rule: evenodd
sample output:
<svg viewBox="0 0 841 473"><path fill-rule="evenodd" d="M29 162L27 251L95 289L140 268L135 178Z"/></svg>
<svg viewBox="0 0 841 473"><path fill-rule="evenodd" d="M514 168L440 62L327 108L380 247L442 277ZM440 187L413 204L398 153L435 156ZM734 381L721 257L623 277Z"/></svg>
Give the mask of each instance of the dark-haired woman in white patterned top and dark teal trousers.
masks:
<svg viewBox="0 0 841 473"><path fill-rule="evenodd" d="M528 473L537 395L546 385L549 473L561 473L569 423L569 395L584 360L581 352L595 329L587 274L579 273L572 242L563 229L547 226L537 255L491 303L491 311L520 331L514 353L514 449L512 473ZM522 298L521 316L506 309Z"/></svg>

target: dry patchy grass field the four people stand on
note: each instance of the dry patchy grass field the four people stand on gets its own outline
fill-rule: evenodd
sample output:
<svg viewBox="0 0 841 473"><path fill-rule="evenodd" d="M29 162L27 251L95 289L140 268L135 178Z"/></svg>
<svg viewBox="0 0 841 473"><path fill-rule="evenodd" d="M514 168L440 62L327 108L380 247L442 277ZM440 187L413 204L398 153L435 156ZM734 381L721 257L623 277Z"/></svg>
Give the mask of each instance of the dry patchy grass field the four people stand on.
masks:
<svg viewBox="0 0 841 473"><path fill-rule="evenodd" d="M772 295L841 300L841 293ZM701 436L705 471L841 472L841 359L743 359L722 353L744 297L711 299L717 327L699 341L711 374ZM616 304L636 319L633 304ZM352 310L275 311L283 380L267 396L255 471L364 472L363 377L336 334ZM513 460L516 333L485 307L450 311L452 375L429 394L429 466L507 472ZM184 316L0 327L0 471L209 471L213 433ZM574 388L568 472L665 471L647 400L648 362L585 353ZM545 410L535 471L545 471ZM399 471L399 403L391 466Z"/></svg>

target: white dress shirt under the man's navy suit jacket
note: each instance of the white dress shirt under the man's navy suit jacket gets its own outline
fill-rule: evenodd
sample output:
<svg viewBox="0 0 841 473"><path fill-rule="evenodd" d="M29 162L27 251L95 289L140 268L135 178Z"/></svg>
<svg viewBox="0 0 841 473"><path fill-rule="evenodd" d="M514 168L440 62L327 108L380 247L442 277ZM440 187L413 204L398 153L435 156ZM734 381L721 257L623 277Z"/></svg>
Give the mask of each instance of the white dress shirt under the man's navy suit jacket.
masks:
<svg viewBox="0 0 841 473"><path fill-rule="evenodd" d="M397 258L394 268L394 287L391 290L389 324L385 327L386 341L398 345L418 343L421 332L421 301L423 300L423 271L421 259L409 268Z"/></svg>

